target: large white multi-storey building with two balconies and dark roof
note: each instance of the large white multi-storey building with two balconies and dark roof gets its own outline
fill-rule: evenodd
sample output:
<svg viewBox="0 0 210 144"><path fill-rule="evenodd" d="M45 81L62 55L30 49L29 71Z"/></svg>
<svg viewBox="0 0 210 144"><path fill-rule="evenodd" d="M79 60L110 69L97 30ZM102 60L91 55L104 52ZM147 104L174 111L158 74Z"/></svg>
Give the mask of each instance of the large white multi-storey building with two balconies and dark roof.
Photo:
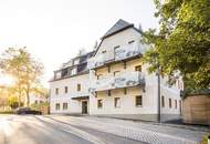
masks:
<svg viewBox="0 0 210 144"><path fill-rule="evenodd" d="M91 115L156 121L158 79L155 73L149 74L148 65L141 62L147 45L140 40L140 30L119 20L102 38L97 50L87 54L85 73L75 74L74 70L69 76L72 68L77 68L69 64L55 71L51 81L51 112L82 113L88 107L86 111ZM161 120L176 119L180 115L182 82L169 86L166 78L160 79ZM81 84L81 92L76 92L77 84ZM70 92L65 94L66 86ZM66 110L64 103L67 103Z"/></svg>

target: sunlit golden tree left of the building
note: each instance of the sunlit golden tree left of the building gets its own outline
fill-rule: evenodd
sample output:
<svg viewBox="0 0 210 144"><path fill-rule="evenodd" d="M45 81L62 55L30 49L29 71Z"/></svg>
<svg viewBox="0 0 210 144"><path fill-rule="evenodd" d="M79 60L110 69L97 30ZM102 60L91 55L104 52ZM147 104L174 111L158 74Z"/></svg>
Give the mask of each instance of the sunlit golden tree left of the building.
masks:
<svg viewBox="0 0 210 144"><path fill-rule="evenodd" d="M0 69L15 79L19 105L21 96L24 94L25 103L29 106L30 92L40 83L43 64L32 59L25 48L9 48L0 59Z"/></svg>

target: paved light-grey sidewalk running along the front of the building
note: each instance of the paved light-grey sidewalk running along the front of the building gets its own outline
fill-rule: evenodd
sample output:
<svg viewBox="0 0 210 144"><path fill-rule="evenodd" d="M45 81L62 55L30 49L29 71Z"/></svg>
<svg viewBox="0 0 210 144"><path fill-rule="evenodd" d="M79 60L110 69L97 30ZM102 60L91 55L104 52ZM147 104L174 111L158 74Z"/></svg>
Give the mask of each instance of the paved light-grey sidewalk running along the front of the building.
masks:
<svg viewBox="0 0 210 144"><path fill-rule="evenodd" d="M192 131L166 125L155 125L151 123L136 123L105 117L59 115L51 115L49 117L62 123L75 126L81 125L150 144L198 144L207 133L204 131Z"/></svg>

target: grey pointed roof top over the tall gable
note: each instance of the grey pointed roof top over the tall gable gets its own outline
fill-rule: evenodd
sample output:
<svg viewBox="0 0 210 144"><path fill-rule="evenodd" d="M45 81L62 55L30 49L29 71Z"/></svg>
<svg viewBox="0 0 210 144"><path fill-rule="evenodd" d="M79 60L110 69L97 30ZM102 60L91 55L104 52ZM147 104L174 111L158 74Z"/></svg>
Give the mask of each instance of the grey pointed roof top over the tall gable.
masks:
<svg viewBox="0 0 210 144"><path fill-rule="evenodd" d="M122 31L122 30L124 30L124 29L126 29L126 28L129 28L129 27L134 27L134 24L133 24L133 23L129 23L129 22L127 22L127 21L124 21L124 20L122 20L122 19L119 19L119 20L104 34L104 37L103 37L102 39L107 38L107 37L109 37L109 35L113 35L113 34L115 34L115 33L117 33L117 32L119 32L119 31Z"/></svg>

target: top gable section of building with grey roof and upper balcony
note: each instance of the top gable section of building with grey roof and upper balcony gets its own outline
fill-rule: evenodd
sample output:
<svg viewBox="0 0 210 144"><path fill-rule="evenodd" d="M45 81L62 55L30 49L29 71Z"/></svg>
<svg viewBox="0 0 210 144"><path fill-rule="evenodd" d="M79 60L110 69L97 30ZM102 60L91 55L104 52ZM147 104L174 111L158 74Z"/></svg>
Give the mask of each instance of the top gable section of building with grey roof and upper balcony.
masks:
<svg viewBox="0 0 210 144"><path fill-rule="evenodd" d="M96 69L136 56L141 56L145 47L140 42L141 31L133 23L118 20L103 37L88 69Z"/></svg>

